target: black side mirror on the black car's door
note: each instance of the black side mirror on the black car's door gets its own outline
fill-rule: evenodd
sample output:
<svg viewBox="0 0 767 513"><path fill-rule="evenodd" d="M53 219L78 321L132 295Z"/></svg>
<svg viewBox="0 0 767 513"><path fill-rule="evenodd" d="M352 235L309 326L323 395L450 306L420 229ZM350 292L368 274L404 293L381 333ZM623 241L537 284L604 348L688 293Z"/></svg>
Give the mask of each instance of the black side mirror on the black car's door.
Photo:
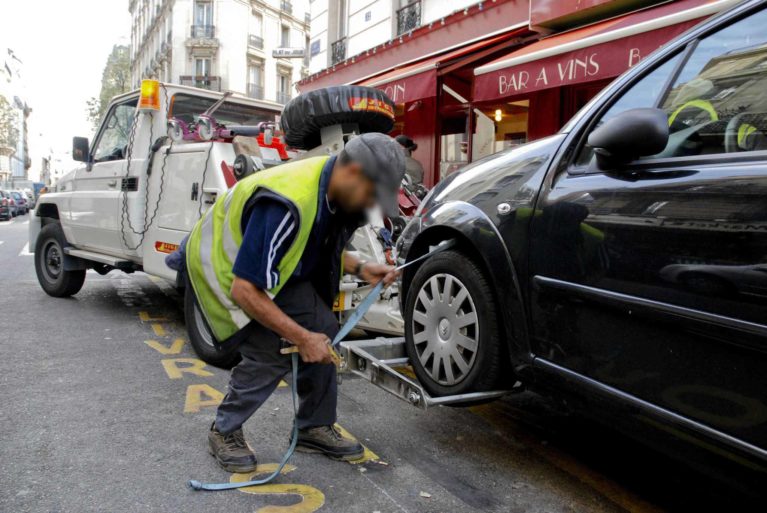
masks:
<svg viewBox="0 0 767 513"><path fill-rule="evenodd" d="M660 109L621 112L591 132L588 144L601 170L655 155L668 144L668 115Z"/></svg>

